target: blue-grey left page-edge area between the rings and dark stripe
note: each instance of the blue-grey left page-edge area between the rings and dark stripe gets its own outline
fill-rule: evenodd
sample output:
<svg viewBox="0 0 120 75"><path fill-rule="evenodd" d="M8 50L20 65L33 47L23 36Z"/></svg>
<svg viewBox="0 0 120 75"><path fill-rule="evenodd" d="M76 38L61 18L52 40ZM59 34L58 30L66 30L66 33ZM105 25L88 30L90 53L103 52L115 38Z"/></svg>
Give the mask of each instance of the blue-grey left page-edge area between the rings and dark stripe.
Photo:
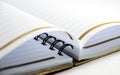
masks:
<svg viewBox="0 0 120 75"><path fill-rule="evenodd" d="M46 46L42 46L39 42L31 39L1 59L0 67L54 57L54 55L55 54L52 54Z"/></svg>

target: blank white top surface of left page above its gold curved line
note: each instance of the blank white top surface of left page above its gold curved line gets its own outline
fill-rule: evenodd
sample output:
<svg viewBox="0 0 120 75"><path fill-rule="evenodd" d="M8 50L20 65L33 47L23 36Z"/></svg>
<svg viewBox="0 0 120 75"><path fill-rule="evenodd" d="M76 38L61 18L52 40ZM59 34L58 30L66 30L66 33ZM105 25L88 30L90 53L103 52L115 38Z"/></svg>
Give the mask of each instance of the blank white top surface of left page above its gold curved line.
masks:
<svg viewBox="0 0 120 75"><path fill-rule="evenodd" d="M47 27L49 28L52 26L0 1L0 49L2 49L5 44L25 32Z"/></svg>

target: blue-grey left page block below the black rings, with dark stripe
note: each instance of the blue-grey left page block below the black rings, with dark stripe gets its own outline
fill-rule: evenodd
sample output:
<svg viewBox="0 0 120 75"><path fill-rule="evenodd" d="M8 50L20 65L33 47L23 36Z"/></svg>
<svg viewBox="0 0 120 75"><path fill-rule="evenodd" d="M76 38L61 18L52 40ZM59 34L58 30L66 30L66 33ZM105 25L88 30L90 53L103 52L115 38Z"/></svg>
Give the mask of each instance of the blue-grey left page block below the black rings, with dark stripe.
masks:
<svg viewBox="0 0 120 75"><path fill-rule="evenodd" d="M0 74L30 74L72 63L72 58L66 54L60 56L57 49L51 51L49 45L40 42L42 40L32 38L4 56L0 60Z"/></svg>

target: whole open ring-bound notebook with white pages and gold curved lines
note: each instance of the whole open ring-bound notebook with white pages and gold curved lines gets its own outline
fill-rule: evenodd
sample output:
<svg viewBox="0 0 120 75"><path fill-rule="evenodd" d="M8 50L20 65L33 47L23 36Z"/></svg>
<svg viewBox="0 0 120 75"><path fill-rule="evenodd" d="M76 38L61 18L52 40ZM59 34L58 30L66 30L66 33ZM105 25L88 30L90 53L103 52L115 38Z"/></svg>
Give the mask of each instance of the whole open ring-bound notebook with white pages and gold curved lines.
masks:
<svg viewBox="0 0 120 75"><path fill-rule="evenodd" d="M52 1L0 1L0 74L47 73L120 50L119 15L109 17L119 11L82 15L77 1Z"/></svg>

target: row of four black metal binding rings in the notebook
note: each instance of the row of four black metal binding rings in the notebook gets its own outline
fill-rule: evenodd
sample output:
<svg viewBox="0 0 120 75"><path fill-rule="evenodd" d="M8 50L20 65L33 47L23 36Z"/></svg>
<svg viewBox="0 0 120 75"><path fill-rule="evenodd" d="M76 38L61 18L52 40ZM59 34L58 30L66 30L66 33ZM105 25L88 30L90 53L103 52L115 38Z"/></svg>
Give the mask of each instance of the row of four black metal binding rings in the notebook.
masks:
<svg viewBox="0 0 120 75"><path fill-rule="evenodd" d="M46 37L45 37L45 38L42 38L41 35L45 35ZM64 48L66 48L67 46L70 46L72 49L74 48L73 45L71 45L71 44L66 44L64 41L62 41L62 40L60 40L60 39L57 39L57 38L54 37L54 36L49 36L48 33L42 33L42 34L40 34L40 35L37 35L37 36L34 37L34 39L35 39L36 41L39 41L39 39L43 39L43 41L42 41L42 43L41 43L41 44L43 44L43 45L46 45L46 43L47 43L47 41L48 41L49 39L54 39L54 42L51 43L51 46L50 46L50 48L49 48L50 50L54 50L55 45L56 45L57 43L61 42L63 45L60 47L60 49L59 49L59 51L58 51L58 54L61 55L61 56L63 55L62 52L63 52Z"/></svg>

